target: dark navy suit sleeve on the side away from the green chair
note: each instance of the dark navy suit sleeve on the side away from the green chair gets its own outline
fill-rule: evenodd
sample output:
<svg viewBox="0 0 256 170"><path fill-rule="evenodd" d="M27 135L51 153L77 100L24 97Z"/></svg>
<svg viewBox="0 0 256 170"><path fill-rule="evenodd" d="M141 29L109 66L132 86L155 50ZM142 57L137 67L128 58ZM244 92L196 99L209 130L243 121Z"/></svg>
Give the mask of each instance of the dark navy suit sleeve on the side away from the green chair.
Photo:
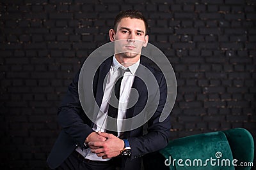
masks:
<svg viewBox="0 0 256 170"><path fill-rule="evenodd" d="M70 138L84 148L84 141L93 132L89 119L86 118L78 95L78 72L68 87L68 92L58 108L58 122ZM88 122L86 122L88 121Z"/></svg>

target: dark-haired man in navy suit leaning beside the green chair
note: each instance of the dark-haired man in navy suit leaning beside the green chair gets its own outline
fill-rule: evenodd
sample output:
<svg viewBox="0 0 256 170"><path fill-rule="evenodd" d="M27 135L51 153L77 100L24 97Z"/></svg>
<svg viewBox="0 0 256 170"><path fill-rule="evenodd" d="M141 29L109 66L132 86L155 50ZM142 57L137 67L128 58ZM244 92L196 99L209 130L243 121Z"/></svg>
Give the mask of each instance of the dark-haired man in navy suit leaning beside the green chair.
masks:
<svg viewBox="0 0 256 170"><path fill-rule="evenodd" d="M96 117L93 121L81 106L77 73L58 110L63 131L47 159L52 169L140 169L143 155L167 145L170 117L159 122L166 103L166 81L163 73L140 60L141 48L148 43L147 27L147 20L138 11L124 11L116 16L114 29L109 30L109 39L115 42L115 55L100 65L93 79L93 94L100 108L93 113ZM147 85L137 76L148 77L147 71L143 72L145 68L156 78L157 90L148 91ZM134 98L131 89L136 89L139 96L130 107L129 101ZM119 100L118 109L109 104L114 92ZM157 96L157 92L158 100L152 97ZM156 110L151 108L154 105ZM147 134L143 134L143 124L136 129L122 131L127 126L122 120L135 117L144 108L145 117L154 111L147 122ZM108 117L118 120L108 124L111 121ZM113 125L110 130L109 125Z"/></svg>

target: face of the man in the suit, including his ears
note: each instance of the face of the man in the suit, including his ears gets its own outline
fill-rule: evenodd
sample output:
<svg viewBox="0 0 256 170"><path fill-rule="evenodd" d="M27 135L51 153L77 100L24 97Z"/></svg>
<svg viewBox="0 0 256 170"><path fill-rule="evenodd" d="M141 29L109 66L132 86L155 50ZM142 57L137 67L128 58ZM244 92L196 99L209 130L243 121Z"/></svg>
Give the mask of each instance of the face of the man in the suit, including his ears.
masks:
<svg viewBox="0 0 256 170"><path fill-rule="evenodd" d="M111 36L110 32L109 36ZM140 56L142 46L147 46L148 43L148 36L145 34L143 20L122 18L117 25L116 32L113 31L113 39L111 39L115 41L115 53L120 53L123 57Z"/></svg>

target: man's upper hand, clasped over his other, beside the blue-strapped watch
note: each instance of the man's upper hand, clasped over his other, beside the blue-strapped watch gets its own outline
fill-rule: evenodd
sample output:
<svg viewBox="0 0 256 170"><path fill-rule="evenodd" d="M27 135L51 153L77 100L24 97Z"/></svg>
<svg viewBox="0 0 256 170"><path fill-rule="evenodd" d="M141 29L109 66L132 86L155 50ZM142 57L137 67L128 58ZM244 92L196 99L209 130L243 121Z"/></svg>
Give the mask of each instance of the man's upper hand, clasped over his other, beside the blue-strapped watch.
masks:
<svg viewBox="0 0 256 170"><path fill-rule="evenodd" d="M89 145L97 146L99 148L92 149L93 153L96 153L98 157L102 159L108 159L120 155L121 151L124 149L124 141L117 138L113 134L108 134L105 132L98 132L98 134L104 138L106 141L92 141Z"/></svg>

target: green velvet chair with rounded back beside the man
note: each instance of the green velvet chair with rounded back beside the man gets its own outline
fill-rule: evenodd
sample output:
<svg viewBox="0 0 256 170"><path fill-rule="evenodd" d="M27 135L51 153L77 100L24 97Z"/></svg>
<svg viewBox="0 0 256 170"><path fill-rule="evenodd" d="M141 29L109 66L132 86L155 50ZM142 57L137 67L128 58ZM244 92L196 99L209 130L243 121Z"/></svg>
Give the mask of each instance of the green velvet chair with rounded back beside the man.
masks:
<svg viewBox="0 0 256 170"><path fill-rule="evenodd" d="M166 162L170 163L170 170L251 169L251 167L238 166L235 168L232 160L239 160L235 164L253 162L254 143L250 132L237 128L174 139L159 153L165 159L171 160ZM178 162L179 159L182 162ZM205 163L207 159L209 160Z"/></svg>

